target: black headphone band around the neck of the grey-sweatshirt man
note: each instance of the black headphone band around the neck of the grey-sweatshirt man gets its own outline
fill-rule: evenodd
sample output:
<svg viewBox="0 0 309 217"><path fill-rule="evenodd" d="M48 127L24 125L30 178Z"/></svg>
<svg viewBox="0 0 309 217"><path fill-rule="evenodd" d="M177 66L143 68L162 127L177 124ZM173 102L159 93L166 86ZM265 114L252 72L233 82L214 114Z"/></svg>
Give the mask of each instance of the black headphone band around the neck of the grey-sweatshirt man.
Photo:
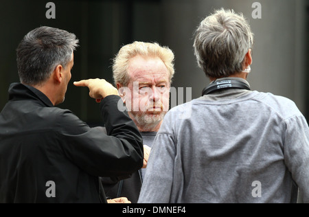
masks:
<svg viewBox="0 0 309 217"><path fill-rule="evenodd" d="M240 80L220 80L218 82L214 82L209 84L205 89L203 89L202 95L207 95L214 91L218 91L220 89L228 89L228 88L237 88L237 89L246 89L251 91L248 84L240 81Z"/></svg>

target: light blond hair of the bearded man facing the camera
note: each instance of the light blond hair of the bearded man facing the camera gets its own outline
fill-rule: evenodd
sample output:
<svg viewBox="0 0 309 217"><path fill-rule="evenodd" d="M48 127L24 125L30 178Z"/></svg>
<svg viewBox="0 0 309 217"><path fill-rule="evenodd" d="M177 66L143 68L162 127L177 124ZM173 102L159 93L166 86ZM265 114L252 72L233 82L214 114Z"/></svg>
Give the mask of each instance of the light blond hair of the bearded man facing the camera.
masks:
<svg viewBox="0 0 309 217"><path fill-rule="evenodd" d="M135 41L134 43L124 45L113 59L113 78L115 84L128 85L130 77L128 76L128 65L130 58L137 55L159 57L170 73L170 82L174 76L174 53L168 47L161 47L158 43L145 43Z"/></svg>

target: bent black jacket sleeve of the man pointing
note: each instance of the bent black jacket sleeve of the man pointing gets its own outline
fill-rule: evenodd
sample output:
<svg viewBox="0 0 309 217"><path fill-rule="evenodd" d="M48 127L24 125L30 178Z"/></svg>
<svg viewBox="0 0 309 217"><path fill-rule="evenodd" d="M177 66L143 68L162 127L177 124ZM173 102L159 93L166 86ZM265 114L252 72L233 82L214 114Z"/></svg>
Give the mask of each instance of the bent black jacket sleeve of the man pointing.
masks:
<svg viewBox="0 0 309 217"><path fill-rule="evenodd" d="M119 100L119 96L109 95L100 103L107 135L70 111L58 115L58 144L67 158L94 176L130 176L143 165L141 134Z"/></svg>

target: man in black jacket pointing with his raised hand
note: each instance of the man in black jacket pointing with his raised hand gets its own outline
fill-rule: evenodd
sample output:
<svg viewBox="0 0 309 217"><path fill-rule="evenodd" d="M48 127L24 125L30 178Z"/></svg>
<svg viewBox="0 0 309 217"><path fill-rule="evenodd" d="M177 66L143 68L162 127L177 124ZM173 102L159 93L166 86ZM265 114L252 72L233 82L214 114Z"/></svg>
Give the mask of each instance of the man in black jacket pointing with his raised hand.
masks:
<svg viewBox="0 0 309 217"><path fill-rule="evenodd" d="M107 135L55 107L65 99L77 44L65 30L38 27L17 48L21 83L10 85L0 113L0 203L106 203L99 176L123 179L143 165L139 130L105 80L74 84L100 102Z"/></svg>

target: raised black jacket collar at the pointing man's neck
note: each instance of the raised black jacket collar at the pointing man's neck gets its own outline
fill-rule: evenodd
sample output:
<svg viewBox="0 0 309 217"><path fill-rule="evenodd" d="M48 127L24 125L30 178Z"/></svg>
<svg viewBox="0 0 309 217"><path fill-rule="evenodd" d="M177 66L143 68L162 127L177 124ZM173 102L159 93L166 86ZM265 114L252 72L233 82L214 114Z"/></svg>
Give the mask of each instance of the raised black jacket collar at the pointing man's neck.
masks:
<svg viewBox="0 0 309 217"><path fill-rule="evenodd" d="M38 89L21 84L12 83L9 87L9 100L35 100L40 102L43 106L54 107L54 104L47 98L47 96Z"/></svg>

